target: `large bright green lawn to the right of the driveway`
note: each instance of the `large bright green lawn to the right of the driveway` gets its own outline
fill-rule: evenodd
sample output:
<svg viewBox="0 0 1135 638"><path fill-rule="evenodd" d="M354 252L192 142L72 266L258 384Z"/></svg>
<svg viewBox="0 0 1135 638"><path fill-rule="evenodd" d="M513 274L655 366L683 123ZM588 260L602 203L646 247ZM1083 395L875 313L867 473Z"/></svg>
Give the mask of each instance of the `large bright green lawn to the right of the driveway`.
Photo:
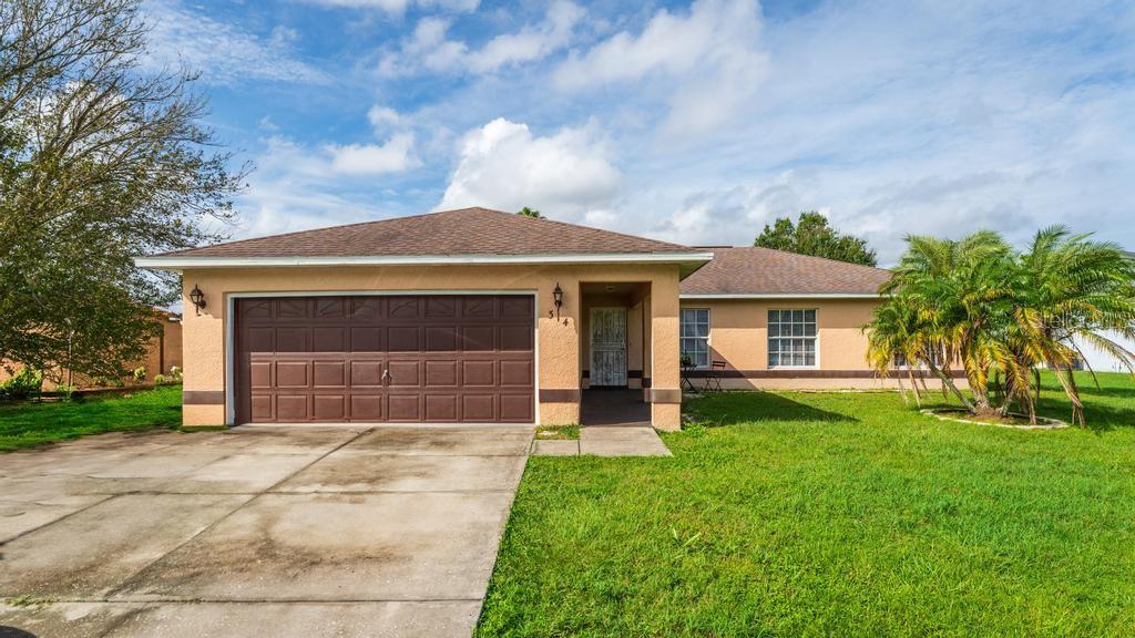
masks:
<svg viewBox="0 0 1135 638"><path fill-rule="evenodd" d="M671 459L532 457L478 635L1135 635L1135 384L1081 380L1090 430L735 393Z"/></svg>

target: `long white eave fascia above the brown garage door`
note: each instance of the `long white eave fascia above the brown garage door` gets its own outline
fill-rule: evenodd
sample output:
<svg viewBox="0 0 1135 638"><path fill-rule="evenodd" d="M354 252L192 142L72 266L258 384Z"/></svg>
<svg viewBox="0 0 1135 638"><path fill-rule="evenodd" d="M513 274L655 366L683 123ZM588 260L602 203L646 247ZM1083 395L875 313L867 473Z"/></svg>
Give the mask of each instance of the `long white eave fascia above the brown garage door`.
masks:
<svg viewBox="0 0 1135 638"><path fill-rule="evenodd" d="M153 270L196 268L326 268L351 266L493 266L541 263L678 263L692 272L713 259L712 252L432 254L360 257L137 257L134 265Z"/></svg>

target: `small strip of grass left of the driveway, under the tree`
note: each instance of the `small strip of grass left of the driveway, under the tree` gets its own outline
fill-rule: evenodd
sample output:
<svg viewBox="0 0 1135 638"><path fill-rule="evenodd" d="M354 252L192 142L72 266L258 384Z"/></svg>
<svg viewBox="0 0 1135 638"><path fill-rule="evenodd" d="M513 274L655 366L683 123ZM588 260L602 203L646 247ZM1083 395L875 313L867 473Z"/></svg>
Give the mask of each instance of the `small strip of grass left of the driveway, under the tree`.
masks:
<svg viewBox="0 0 1135 638"><path fill-rule="evenodd" d="M176 428L182 386L159 386L82 402L0 404L0 452L90 434Z"/></svg>

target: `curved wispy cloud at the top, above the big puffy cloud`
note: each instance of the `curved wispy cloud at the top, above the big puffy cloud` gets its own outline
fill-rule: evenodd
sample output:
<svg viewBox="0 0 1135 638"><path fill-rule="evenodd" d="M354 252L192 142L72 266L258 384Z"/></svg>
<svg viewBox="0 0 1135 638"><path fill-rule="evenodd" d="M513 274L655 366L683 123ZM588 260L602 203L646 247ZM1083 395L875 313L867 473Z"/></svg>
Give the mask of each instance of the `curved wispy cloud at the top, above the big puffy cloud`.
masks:
<svg viewBox="0 0 1135 638"><path fill-rule="evenodd" d="M543 59L563 49L571 42L573 28L583 16L585 11L578 5L557 0L548 7L538 24L526 25L515 33L499 34L480 49L448 40L449 20L422 18L397 50L382 57L378 70L385 76L421 72L495 73L511 65Z"/></svg>

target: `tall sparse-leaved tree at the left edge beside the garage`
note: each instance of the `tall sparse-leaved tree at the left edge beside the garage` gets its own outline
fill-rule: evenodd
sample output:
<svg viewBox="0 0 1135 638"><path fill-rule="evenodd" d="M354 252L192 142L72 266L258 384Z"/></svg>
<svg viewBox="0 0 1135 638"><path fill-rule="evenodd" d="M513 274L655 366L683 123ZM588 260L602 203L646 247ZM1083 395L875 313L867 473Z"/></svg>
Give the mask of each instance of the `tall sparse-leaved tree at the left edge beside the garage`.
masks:
<svg viewBox="0 0 1135 638"><path fill-rule="evenodd" d="M0 2L0 360L121 376L175 283L133 257L232 216L243 169L193 76L144 73L145 47L138 0Z"/></svg>

